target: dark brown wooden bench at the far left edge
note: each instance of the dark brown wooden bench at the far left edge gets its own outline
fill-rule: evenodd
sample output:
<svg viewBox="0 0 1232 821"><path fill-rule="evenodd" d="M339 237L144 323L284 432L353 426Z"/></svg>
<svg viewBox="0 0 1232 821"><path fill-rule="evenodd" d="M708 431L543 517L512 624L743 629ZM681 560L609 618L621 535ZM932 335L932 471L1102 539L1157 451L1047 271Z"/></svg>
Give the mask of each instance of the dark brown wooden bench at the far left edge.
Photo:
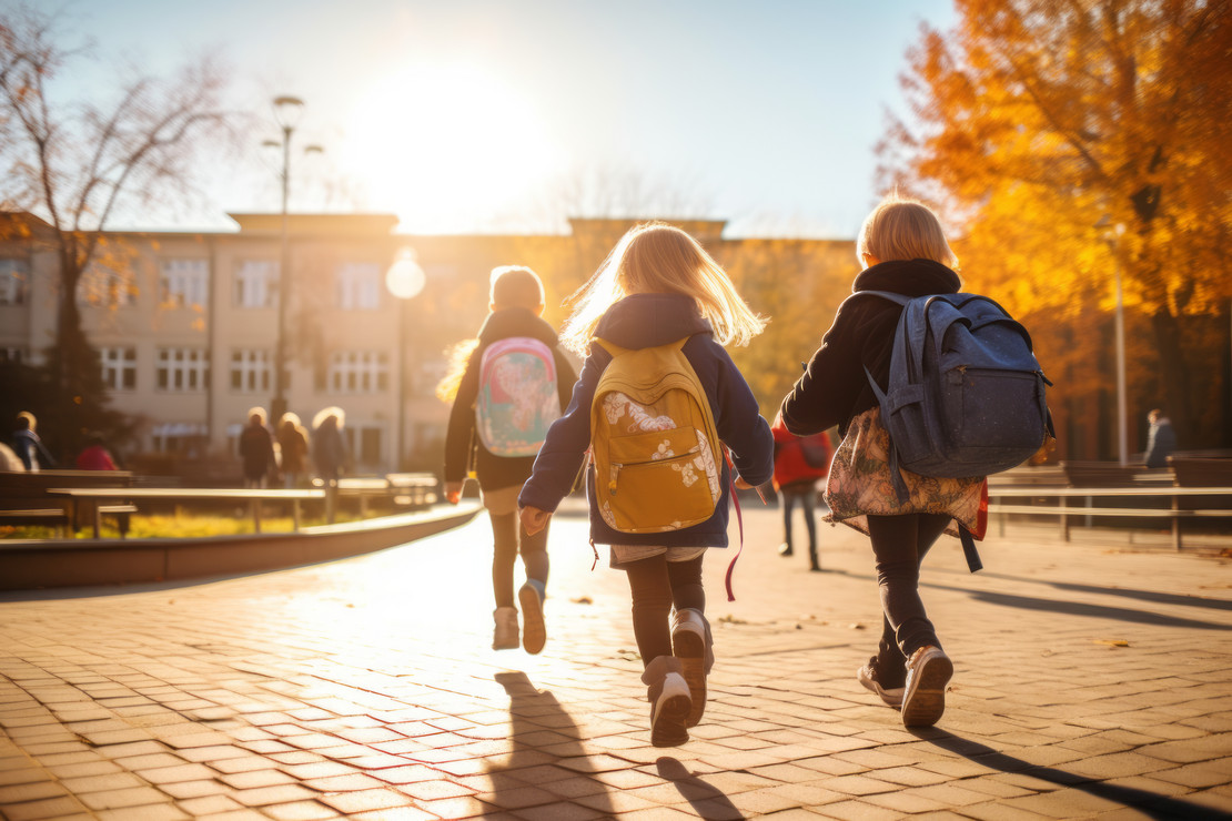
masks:
<svg viewBox="0 0 1232 821"><path fill-rule="evenodd" d="M0 526L34 524L55 528L57 535L89 527L102 517L113 517L120 537L128 535L129 521L137 507L131 502L96 501L74 505L49 494L52 487L128 487L133 474L127 470L38 470L0 473Z"/></svg>

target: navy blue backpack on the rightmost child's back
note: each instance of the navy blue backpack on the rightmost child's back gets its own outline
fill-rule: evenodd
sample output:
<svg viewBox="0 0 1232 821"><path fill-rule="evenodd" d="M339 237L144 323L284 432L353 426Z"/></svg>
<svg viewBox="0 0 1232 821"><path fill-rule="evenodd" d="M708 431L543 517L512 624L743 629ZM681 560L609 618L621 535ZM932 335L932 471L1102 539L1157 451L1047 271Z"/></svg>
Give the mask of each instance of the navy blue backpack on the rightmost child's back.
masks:
<svg viewBox="0 0 1232 821"><path fill-rule="evenodd" d="M1052 383L1031 351L1030 334L1004 308L978 294L855 294L862 295L903 306L885 390L865 368L890 433L890 470L901 501L908 495L901 468L922 476L987 476L1023 464L1045 433L1053 433L1045 400ZM972 564L975 543L961 535Z"/></svg>

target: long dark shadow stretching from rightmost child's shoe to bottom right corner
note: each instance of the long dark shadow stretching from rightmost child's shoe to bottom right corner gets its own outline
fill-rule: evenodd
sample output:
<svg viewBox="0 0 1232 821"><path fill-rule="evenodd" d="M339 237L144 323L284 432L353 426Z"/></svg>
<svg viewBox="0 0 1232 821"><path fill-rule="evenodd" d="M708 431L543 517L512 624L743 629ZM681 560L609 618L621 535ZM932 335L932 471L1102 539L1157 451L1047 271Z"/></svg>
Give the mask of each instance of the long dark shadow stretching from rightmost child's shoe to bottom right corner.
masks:
<svg viewBox="0 0 1232 821"><path fill-rule="evenodd" d="M1127 807L1133 807L1151 819L1185 819L1186 821L1205 821L1206 819L1211 819L1214 821L1216 819L1223 819L1226 821L1228 817L1227 812L1212 810L1211 807L1193 804L1179 798L1161 795L1158 793L1138 789L1136 787L1121 787L1119 784L1088 780L1083 775L1069 773L1063 769L1056 769L1053 767L1037 767L1036 764L1023 761L1021 758L997 752L992 747L982 745L978 741L963 739L951 732L946 732L945 730L938 730L936 727L914 730L912 731L912 735L922 741L928 741L929 743L934 743L942 750L949 750L952 753L962 756L981 767L988 767L989 769L997 769L1003 773L1030 775L1031 778L1037 778L1041 782L1048 782L1050 784L1060 784L1069 789L1082 790L1083 793L1089 793L1096 798L1116 801L1117 804Z"/></svg>

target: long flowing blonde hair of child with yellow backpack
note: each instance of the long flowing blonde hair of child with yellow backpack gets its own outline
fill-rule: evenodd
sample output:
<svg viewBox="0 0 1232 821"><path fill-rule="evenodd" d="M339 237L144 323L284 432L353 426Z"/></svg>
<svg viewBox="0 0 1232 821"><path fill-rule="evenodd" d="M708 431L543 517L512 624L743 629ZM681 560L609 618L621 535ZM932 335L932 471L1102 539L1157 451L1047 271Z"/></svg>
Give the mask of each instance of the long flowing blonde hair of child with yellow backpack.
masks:
<svg viewBox="0 0 1232 821"><path fill-rule="evenodd" d="M719 345L748 345L765 329L766 319L753 313L697 240L654 222L631 228L586 284L569 297L577 308L561 330L561 343L589 354L590 340L607 309L630 294L644 293L692 297Z"/></svg>

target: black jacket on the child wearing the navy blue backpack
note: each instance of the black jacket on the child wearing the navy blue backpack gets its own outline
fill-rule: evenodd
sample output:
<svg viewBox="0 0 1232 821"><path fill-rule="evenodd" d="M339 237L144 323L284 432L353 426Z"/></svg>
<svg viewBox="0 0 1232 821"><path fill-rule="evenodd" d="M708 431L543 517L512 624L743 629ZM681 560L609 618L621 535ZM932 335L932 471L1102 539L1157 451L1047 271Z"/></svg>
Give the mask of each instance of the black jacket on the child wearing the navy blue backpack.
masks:
<svg viewBox="0 0 1232 821"><path fill-rule="evenodd" d="M931 260L881 262L862 271L853 293L892 290L907 297L957 293L958 274ZM819 433L834 425L846 435L851 420L877 406L865 367L877 384L890 379L890 354L902 306L878 297L848 298L822 337L804 375L782 400L782 421L797 436Z"/></svg>

